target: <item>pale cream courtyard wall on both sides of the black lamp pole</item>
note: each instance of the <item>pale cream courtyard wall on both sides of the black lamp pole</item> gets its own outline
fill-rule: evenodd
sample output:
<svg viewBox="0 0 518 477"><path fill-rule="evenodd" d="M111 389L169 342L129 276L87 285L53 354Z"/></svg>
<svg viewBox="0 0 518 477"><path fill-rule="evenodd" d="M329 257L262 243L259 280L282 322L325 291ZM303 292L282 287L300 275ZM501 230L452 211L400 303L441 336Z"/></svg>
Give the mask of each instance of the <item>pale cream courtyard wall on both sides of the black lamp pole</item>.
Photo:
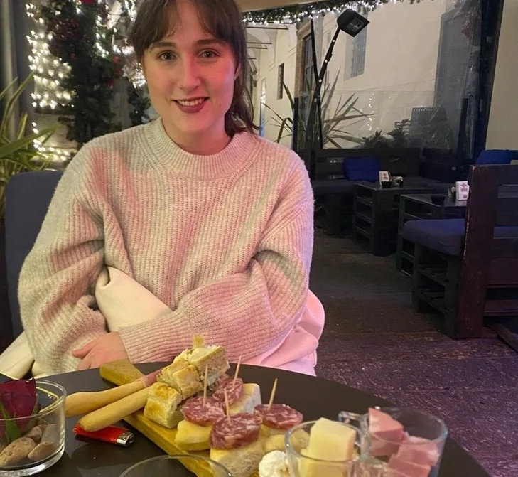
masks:
<svg viewBox="0 0 518 477"><path fill-rule="evenodd" d="M350 68L347 65L351 61L353 38L340 33L328 68L329 82L338 75L330 115L334 115L340 97L345 100L353 93L360 98L357 107L363 112L373 114L358 124L342 123L342 129L360 138L373 134L377 129L388 132L394 129L394 122L409 118L412 108L433 105L441 16L451 6L451 0L423 1L413 5L405 1L386 4L373 11L369 14L371 23L367 27L365 73L353 78L348 78L345 74L345 70ZM328 48L328 39L333 37L335 28L335 14L327 14L315 22L317 45L320 43L320 60L323 60ZM296 35L288 31L274 33L276 41L273 63L271 55L266 50L261 50L261 59L258 62L259 94L255 103L257 120L263 78L266 78L267 83L266 104L283 117L291 116L288 99L276 99L277 66L285 63L285 82L293 91ZM267 110L267 114L271 113ZM278 131L279 127L269 119L265 136L274 140ZM290 141L286 139L284 144L288 145Z"/></svg>

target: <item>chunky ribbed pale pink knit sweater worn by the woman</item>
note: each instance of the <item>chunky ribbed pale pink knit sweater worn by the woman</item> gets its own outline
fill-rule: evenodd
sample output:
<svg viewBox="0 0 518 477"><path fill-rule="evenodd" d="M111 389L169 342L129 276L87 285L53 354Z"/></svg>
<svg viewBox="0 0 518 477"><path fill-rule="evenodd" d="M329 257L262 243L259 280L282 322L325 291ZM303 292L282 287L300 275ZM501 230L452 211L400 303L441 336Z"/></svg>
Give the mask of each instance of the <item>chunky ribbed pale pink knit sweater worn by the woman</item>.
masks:
<svg viewBox="0 0 518 477"><path fill-rule="evenodd" d="M158 120L91 141L65 170L21 271L23 326L45 371L74 370L71 351L106 333L93 286L107 264L172 310L119 331L132 362L171 360L201 335L230 360L311 368L323 326L304 323L312 249L296 154L242 133L195 156Z"/></svg>

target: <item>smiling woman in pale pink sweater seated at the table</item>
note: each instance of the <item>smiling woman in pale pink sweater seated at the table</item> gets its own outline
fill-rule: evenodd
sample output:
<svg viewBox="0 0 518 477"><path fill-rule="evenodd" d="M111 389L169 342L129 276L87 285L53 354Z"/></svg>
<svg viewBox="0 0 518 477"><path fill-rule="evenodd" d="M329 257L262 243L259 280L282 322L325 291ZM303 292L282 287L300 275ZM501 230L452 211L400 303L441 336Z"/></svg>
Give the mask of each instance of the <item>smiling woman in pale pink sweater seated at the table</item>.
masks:
<svg viewBox="0 0 518 477"><path fill-rule="evenodd" d="M171 360L201 335L231 360L313 374L311 184L296 154L253 134L237 5L144 0L131 43L160 119L90 141L66 169L20 277L37 362ZM109 331L104 266L168 313Z"/></svg>

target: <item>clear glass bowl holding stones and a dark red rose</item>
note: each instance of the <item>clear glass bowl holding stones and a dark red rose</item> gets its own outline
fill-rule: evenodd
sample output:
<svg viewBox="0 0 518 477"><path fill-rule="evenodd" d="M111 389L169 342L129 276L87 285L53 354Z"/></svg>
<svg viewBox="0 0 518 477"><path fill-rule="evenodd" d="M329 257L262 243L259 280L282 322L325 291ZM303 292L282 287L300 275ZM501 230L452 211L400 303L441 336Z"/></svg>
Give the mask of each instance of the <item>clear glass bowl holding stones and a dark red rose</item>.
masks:
<svg viewBox="0 0 518 477"><path fill-rule="evenodd" d="M41 411L31 417L0 419L0 477L32 476L59 461L65 451L66 395L55 382L36 380ZM8 441L8 434L17 438Z"/></svg>

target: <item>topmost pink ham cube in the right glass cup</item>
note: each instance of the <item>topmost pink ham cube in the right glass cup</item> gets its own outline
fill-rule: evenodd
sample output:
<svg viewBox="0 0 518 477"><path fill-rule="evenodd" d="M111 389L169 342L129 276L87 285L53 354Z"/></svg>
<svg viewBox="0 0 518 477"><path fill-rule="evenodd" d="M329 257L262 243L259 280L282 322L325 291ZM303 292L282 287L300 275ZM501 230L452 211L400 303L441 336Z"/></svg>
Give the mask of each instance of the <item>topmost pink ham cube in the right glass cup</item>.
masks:
<svg viewBox="0 0 518 477"><path fill-rule="evenodd" d="M369 434L372 456L392 456L404 439L400 422L377 409L369 408Z"/></svg>

